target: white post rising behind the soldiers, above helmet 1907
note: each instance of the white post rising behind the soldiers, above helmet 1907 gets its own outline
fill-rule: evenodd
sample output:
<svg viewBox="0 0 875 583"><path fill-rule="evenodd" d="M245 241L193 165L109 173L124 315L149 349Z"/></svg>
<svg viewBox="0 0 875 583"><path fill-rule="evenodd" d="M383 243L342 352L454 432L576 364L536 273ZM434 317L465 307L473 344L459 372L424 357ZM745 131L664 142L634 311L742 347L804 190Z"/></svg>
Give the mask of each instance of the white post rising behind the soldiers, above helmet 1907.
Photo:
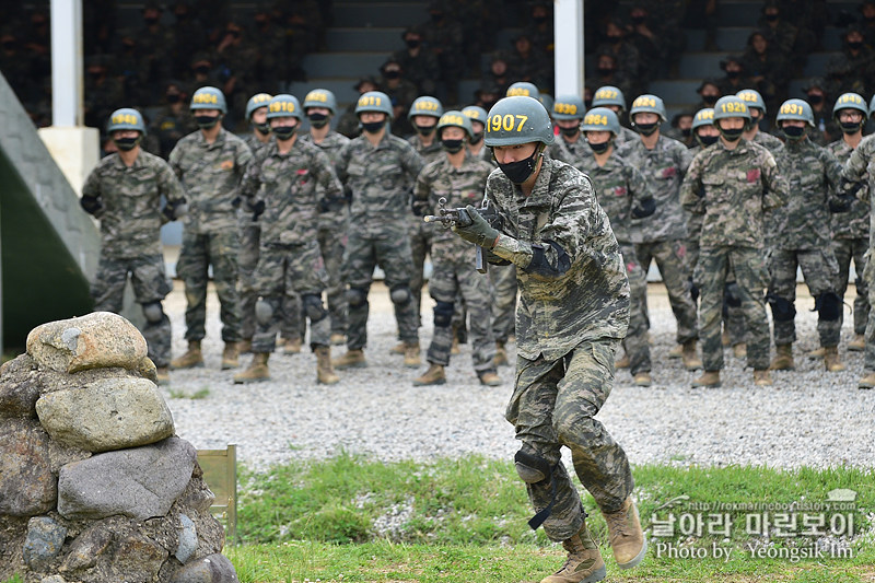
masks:
<svg viewBox="0 0 875 583"><path fill-rule="evenodd" d="M556 0L553 32L556 96L583 97L583 0Z"/></svg>

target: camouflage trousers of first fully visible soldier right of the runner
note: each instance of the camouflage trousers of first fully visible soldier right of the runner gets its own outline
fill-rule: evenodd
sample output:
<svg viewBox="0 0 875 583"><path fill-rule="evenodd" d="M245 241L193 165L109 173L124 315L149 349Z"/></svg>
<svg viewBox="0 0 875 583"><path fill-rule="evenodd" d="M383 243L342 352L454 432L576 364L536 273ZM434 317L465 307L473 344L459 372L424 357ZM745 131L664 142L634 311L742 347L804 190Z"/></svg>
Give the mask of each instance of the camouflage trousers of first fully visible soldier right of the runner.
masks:
<svg viewBox="0 0 875 583"><path fill-rule="evenodd" d="M668 292L668 303L677 320L677 342L698 338L696 327L696 304L690 296L689 269L687 267L687 246L682 240L657 241L653 243L637 243L635 257L641 264L646 277L652 260L656 261L663 283ZM646 292L646 287L644 288ZM644 318L650 328L646 293L639 299L644 313Z"/></svg>

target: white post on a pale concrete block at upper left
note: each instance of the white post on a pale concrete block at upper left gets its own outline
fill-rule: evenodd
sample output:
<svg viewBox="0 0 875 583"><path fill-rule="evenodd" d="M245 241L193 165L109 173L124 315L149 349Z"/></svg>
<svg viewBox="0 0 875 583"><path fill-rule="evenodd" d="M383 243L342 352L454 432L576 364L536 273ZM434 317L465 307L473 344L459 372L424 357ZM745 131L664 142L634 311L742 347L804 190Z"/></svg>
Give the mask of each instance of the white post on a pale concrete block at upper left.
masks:
<svg viewBox="0 0 875 583"><path fill-rule="evenodd" d="M51 125L83 126L82 0L51 0Z"/></svg>

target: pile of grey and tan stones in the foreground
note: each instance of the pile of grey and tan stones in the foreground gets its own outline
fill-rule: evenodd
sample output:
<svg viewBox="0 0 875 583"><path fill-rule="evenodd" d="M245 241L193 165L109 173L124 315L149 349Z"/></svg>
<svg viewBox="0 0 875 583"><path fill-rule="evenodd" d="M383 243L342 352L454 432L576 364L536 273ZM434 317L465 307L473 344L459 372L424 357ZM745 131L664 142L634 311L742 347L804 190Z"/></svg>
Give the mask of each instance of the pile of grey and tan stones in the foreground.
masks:
<svg viewBox="0 0 875 583"><path fill-rule="evenodd" d="M0 368L0 582L238 583L137 328L44 324Z"/></svg>

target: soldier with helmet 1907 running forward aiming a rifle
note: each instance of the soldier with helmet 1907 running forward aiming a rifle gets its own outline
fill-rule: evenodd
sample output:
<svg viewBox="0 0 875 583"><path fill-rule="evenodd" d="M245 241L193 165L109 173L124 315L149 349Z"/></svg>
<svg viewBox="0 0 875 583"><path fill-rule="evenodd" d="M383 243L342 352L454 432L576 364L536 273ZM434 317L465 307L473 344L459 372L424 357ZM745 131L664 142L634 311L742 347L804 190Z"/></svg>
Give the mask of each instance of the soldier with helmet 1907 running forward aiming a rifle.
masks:
<svg viewBox="0 0 875 583"><path fill-rule="evenodd" d="M541 583L575 583L604 579L605 563L561 462L562 445L605 515L619 567L638 564L646 541L626 453L594 418L610 393L615 351L629 323L626 269L590 180L544 154L552 141L538 102L516 96L495 104L486 143L500 170L489 176L486 193L500 231L471 206L468 220L453 229L483 247L491 261L516 267L516 384L506 418L523 445L514 459L538 511L529 525L544 524L568 551L565 564Z"/></svg>

